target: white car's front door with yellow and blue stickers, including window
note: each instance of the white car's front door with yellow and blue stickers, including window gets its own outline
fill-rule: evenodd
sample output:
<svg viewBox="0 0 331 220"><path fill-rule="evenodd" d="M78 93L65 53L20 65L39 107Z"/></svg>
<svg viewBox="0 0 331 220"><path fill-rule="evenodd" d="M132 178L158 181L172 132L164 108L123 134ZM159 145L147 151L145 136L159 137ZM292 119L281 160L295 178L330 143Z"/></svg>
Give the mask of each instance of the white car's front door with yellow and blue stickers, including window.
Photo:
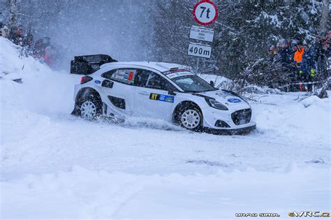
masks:
<svg viewBox="0 0 331 220"><path fill-rule="evenodd" d="M134 114L170 120L175 95L169 95L168 90L175 91L175 87L158 73L145 69L138 69L134 81Z"/></svg>

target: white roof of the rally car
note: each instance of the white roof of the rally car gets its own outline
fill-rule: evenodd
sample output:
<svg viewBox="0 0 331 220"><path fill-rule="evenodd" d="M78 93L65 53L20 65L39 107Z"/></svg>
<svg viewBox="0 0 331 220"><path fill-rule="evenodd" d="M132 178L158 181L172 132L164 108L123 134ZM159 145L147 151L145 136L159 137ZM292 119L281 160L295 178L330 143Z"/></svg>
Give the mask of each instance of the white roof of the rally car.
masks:
<svg viewBox="0 0 331 220"><path fill-rule="evenodd" d="M170 71L172 68L186 68L191 69L189 66L183 66L180 64L170 64L170 63L164 63L164 62L149 62L149 61L125 61L125 62L112 62L108 64L103 64L101 68L104 67L111 67L111 66L142 66L142 67L148 67L148 68L154 68L157 71L165 72Z"/></svg>

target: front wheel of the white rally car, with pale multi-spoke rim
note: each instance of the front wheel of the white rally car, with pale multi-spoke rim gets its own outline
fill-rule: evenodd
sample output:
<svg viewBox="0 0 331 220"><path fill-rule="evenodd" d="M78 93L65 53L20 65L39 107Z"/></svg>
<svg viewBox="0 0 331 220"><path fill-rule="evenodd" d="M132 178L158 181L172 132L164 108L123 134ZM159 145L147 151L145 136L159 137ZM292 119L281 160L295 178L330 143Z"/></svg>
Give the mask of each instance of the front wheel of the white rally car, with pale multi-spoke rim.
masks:
<svg viewBox="0 0 331 220"><path fill-rule="evenodd" d="M198 106L189 104L179 110L177 122L184 129L201 131L203 129L203 114Z"/></svg>

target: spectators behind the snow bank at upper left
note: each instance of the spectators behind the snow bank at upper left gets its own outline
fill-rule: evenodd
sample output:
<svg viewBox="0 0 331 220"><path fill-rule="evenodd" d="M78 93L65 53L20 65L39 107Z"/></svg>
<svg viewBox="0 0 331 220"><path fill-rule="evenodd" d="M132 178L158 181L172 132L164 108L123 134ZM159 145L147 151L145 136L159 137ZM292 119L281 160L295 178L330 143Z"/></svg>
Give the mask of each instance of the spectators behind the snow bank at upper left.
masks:
<svg viewBox="0 0 331 220"><path fill-rule="evenodd" d="M45 37L34 42L31 32L23 33L22 26L10 27L0 22L0 37L8 38L9 41L22 47L22 54L31 55L39 61L52 67L54 65L54 47L50 44L50 38Z"/></svg>

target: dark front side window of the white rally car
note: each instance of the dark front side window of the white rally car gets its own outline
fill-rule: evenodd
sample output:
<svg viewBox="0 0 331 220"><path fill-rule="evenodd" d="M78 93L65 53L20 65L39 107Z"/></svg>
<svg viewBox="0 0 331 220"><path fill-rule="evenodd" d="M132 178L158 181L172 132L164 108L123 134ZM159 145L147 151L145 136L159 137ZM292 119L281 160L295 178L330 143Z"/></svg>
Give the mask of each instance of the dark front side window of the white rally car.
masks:
<svg viewBox="0 0 331 220"><path fill-rule="evenodd" d="M161 89L165 91L176 91L177 89L161 75L152 71L140 69L135 75L135 86L150 89Z"/></svg>

